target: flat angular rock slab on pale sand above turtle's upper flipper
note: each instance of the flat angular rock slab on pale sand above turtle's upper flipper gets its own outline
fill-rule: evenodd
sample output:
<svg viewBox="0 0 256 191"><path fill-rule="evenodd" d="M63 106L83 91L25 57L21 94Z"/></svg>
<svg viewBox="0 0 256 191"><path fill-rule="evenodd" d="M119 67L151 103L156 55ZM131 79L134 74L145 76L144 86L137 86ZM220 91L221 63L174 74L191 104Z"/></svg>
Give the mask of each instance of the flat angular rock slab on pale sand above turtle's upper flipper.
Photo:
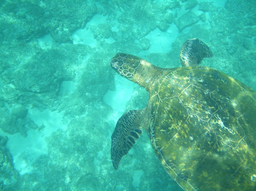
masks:
<svg viewBox="0 0 256 191"><path fill-rule="evenodd" d="M196 23L199 21L199 18L192 12L187 12L183 14L180 18L175 19L174 23L178 27L179 31L182 31L184 28Z"/></svg>

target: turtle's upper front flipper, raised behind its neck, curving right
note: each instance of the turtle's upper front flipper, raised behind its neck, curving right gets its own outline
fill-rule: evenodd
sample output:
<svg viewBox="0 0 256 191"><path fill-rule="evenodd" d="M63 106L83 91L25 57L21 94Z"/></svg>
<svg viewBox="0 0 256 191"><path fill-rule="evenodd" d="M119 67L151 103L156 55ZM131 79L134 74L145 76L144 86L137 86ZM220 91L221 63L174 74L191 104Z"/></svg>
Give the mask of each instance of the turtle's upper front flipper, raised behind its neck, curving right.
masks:
<svg viewBox="0 0 256 191"><path fill-rule="evenodd" d="M207 44L195 38L186 40L182 44L179 57L183 67L198 66L203 58L212 58L213 53Z"/></svg>

